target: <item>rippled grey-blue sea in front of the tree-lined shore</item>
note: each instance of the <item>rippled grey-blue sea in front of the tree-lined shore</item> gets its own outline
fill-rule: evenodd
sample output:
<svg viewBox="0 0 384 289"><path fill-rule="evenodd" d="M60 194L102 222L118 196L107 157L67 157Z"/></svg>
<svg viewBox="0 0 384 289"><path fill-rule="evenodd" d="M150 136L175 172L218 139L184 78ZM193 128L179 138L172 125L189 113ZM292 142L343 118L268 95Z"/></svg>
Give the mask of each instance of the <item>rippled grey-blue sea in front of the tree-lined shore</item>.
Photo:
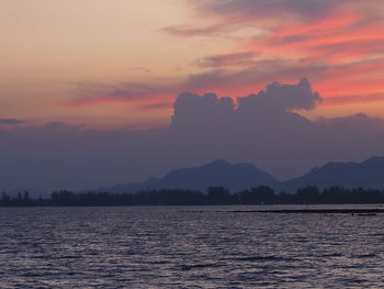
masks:
<svg viewBox="0 0 384 289"><path fill-rule="evenodd" d="M0 208L0 288L384 288L383 214L276 208Z"/></svg>

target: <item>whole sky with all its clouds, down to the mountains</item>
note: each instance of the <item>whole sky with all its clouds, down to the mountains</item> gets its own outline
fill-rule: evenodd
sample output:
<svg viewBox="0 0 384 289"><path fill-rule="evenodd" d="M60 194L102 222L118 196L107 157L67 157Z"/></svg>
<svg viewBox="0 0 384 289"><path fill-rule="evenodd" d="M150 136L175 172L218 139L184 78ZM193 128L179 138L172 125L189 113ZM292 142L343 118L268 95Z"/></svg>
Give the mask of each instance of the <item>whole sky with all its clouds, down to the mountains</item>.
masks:
<svg viewBox="0 0 384 289"><path fill-rule="evenodd" d="M383 31L382 0L0 0L0 188L383 155Z"/></svg>

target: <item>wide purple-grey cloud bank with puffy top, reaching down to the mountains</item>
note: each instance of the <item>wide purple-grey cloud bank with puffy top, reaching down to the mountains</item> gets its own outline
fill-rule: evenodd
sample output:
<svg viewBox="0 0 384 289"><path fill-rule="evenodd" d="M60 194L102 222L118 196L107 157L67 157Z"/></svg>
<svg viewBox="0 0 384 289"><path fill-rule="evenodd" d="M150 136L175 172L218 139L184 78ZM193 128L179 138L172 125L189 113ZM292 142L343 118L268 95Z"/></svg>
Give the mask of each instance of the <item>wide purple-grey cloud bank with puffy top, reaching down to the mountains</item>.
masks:
<svg viewBox="0 0 384 289"><path fill-rule="evenodd" d="M0 127L0 188L89 189L218 158L252 163L286 179L328 162L384 155L382 119L358 114L310 121L296 112L320 100L303 78L293 85L272 82L237 101L182 93L171 124L161 130L86 130L58 122Z"/></svg>

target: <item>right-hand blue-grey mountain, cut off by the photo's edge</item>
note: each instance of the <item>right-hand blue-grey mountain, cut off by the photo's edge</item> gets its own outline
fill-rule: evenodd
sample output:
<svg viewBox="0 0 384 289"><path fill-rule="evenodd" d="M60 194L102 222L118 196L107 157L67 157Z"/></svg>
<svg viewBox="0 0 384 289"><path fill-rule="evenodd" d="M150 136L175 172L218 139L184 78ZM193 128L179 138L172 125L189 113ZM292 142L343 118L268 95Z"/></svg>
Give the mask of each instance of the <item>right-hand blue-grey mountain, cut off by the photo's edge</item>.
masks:
<svg viewBox="0 0 384 289"><path fill-rule="evenodd" d="M384 189L384 157L374 156L362 163L329 163L302 177L282 182L280 188L294 191L307 185L320 189L331 186Z"/></svg>

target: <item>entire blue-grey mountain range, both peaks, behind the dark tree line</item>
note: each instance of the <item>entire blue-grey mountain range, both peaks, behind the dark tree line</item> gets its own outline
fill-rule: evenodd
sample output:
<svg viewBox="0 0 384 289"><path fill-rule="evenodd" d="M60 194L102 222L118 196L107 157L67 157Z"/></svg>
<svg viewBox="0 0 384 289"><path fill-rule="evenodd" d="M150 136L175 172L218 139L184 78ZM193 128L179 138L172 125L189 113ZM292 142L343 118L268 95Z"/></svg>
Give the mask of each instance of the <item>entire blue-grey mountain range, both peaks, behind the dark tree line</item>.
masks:
<svg viewBox="0 0 384 289"><path fill-rule="evenodd" d="M219 159L200 167L176 169L162 178L153 177L142 184L131 182L103 189L114 192L134 192L162 188L206 190L207 187L221 186L230 191L239 191L251 187L269 186L279 191L293 192L308 185L319 188L341 186L384 189L384 157L374 156L362 163L329 163L287 181L279 181L251 164L233 165Z"/></svg>

